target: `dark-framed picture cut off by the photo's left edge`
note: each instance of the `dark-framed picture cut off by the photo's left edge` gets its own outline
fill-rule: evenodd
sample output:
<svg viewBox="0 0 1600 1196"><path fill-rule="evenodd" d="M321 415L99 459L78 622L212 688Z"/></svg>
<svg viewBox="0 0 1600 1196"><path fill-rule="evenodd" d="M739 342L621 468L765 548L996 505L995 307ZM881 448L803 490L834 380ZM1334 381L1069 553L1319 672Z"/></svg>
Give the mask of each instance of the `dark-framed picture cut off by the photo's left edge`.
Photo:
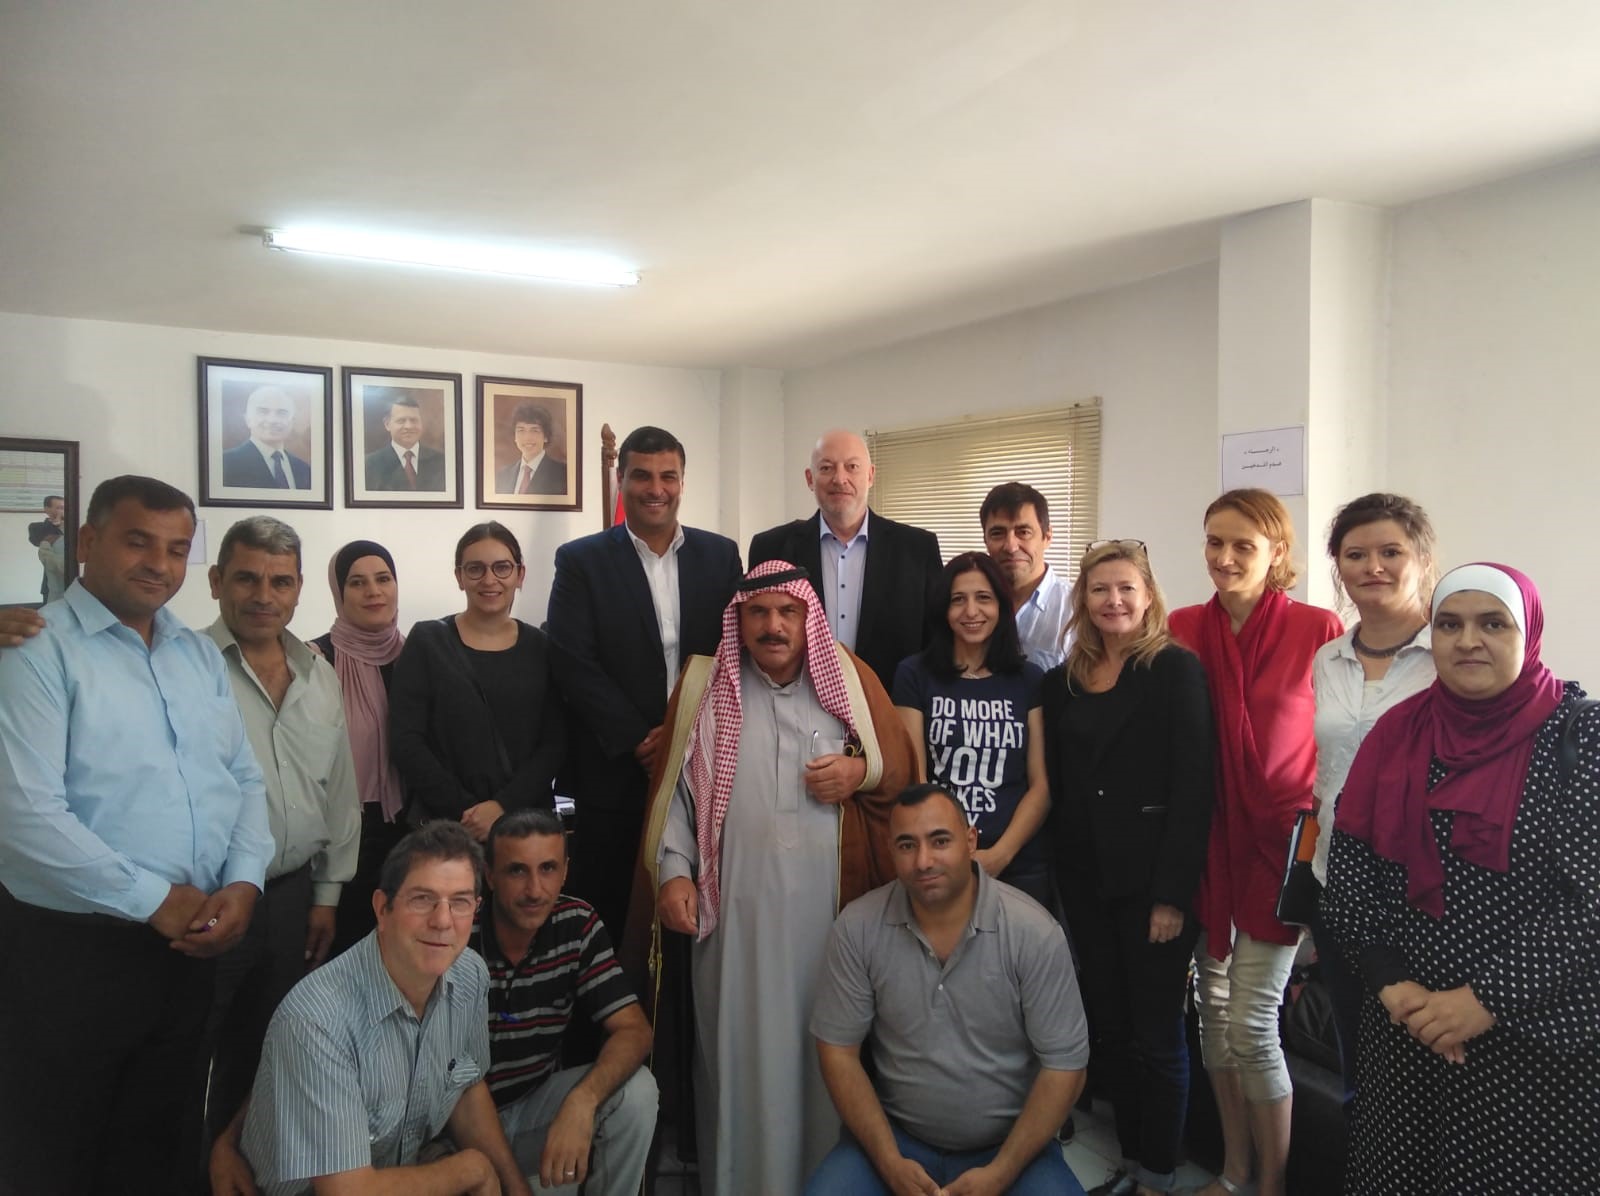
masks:
<svg viewBox="0 0 1600 1196"><path fill-rule="evenodd" d="M0 437L0 606L66 593L80 523L78 441Z"/></svg>

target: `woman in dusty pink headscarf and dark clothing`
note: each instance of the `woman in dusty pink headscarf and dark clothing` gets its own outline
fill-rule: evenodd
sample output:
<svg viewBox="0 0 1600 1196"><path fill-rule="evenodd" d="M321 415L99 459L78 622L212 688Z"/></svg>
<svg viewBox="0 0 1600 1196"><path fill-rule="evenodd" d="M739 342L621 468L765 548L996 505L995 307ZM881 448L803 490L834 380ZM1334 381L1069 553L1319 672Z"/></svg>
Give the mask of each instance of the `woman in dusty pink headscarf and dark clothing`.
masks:
<svg viewBox="0 0 1600 1196"><path fill-rule="evenodd" d="M352 540L328 561L336 619L312 648L339 676L344 723L350 732L355 780L362 795L362 849L355 876L339 894L334 953L362 939L376 924L373 889L389 849L405 835L400 819L405 793L389 761L389 680L405 646L400 635L400 588L395 560L373 540Z"/></svg>

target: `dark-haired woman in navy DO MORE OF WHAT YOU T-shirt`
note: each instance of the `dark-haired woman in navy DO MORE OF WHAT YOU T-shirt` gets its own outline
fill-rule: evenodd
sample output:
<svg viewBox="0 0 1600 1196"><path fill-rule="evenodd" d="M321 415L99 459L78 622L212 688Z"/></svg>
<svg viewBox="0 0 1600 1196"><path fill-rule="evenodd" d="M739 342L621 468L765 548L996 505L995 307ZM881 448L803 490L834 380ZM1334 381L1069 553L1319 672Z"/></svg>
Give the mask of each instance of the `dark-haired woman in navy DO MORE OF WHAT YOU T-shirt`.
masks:
<svg viewBox="0 0 1600 1196"><path fill-rule="evenodd" d="M894 670L894 707L922 745L917 780L942 785L978 828L984 871L1054 907L1038 665L1022 656L1011 587L986 555L944 566L933 640Z"/></svg>

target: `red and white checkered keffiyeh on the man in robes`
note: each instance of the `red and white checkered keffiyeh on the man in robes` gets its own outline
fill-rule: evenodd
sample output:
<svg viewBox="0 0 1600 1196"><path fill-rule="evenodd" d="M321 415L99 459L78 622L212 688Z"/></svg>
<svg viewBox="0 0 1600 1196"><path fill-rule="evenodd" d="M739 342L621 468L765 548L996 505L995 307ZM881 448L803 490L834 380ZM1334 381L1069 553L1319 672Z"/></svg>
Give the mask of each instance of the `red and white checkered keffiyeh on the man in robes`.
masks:
<svg viewBox="0 0 1600 1196"><path fill-rule="evenodd" d="M762 579L771 582L762 585ZM754 584L752 584L754 582ZM838 665L838 649L827 627L827 616L816 592L806 582L805 569L789 561L766 561L746 574L746 580L722 612L722 643L712 665L706 694L694 712L694 728L685 751L685 772L694 799L694 838L699 847L699 939L715 927L722 911L720 863L722 823L733 798L733 774L739 766L739 731L744 705L739 699L739 668L744 641L739 635L739 606L760 593L787 593L805 603L805 665L821 707L843 723L850 734L856 726L850 713L850 692Z"/></svg>

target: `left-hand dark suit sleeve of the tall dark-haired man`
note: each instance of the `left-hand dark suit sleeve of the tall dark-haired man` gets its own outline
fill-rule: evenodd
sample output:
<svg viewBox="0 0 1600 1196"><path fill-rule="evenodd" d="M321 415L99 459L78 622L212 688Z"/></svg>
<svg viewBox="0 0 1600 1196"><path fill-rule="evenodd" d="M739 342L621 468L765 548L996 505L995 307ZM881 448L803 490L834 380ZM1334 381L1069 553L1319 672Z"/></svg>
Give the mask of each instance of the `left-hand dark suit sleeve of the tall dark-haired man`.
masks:
<svg viewBox="0 0 1600 1196"><path fill-rule="evenodd" d="M629 612L606 585L600 568L603 550L600 537L584 537L555 550L549 608L552 660L571 715L589 728L608 756L627 756L654 723L600 657L600 636L621 633L605 624L638 619L638 612ZM666 684L661 691L666 700Z"/></svg>

